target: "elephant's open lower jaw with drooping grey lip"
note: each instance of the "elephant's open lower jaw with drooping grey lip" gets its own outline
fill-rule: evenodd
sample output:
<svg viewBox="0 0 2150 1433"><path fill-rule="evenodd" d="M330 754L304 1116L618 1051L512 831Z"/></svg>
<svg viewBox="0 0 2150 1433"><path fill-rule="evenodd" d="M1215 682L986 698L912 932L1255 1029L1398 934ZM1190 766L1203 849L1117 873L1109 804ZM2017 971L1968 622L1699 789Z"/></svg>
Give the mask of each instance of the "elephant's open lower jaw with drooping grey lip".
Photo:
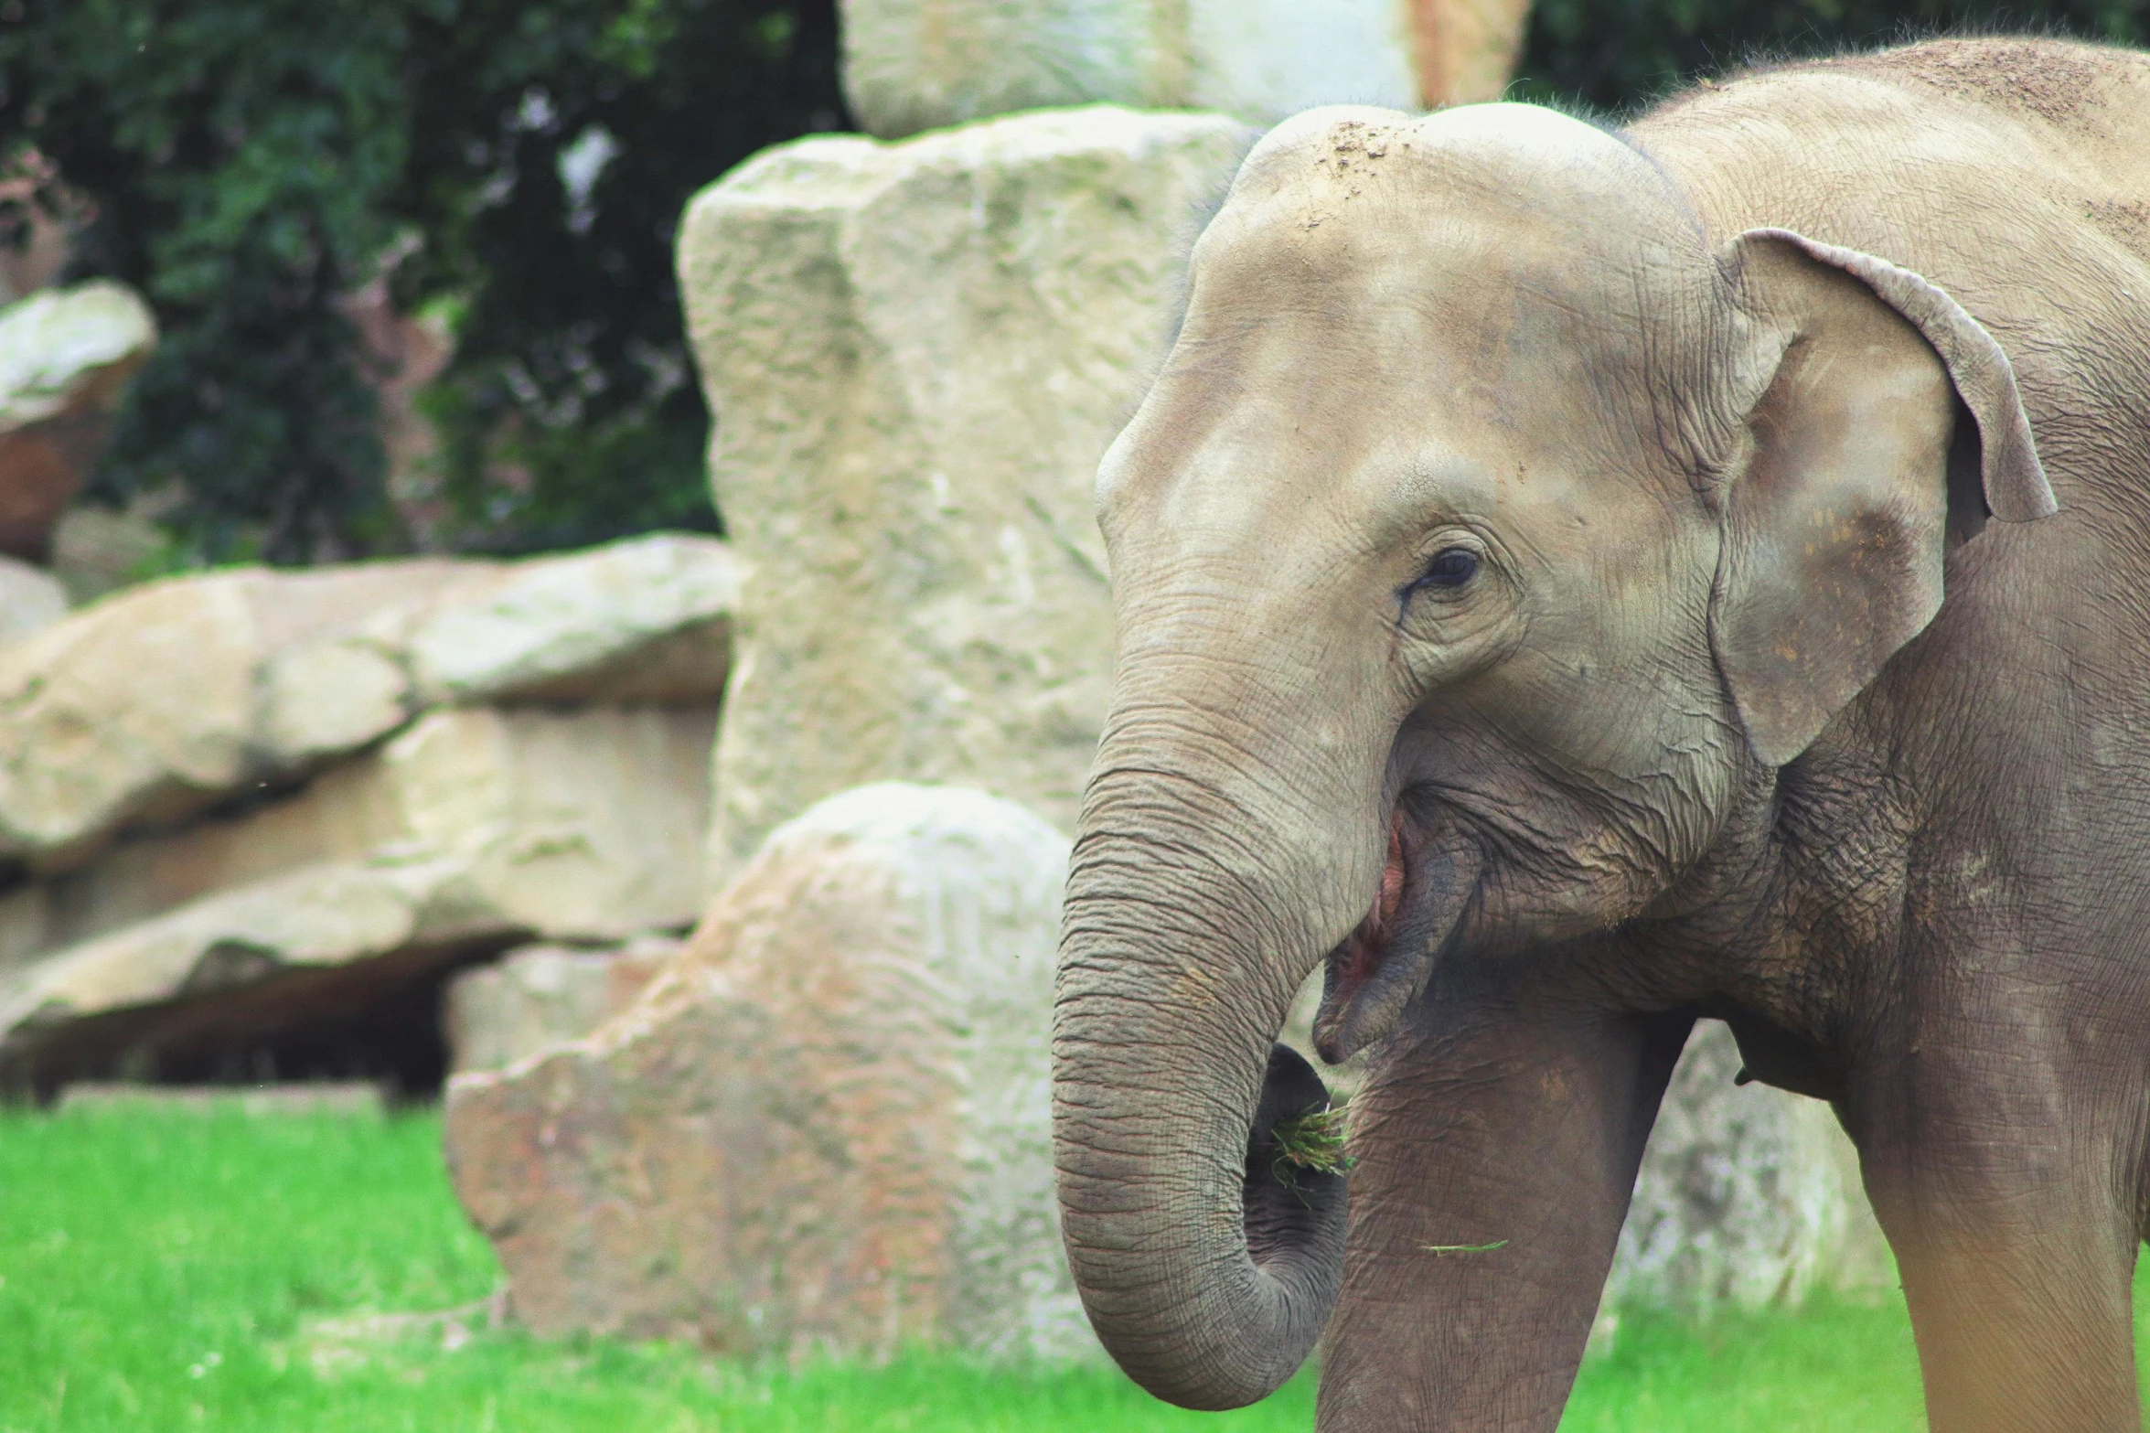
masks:
<svg viewBox="0 0 2150 1433"><path fill-rule="evenodd" d="M1314 1048L1324 1061L1339 1066L1395 1027L1434 973L1477 879L1473 849L1415 849L1404 812L1395 812L1374 909L1329 952L1314 1016Z"/></svg>

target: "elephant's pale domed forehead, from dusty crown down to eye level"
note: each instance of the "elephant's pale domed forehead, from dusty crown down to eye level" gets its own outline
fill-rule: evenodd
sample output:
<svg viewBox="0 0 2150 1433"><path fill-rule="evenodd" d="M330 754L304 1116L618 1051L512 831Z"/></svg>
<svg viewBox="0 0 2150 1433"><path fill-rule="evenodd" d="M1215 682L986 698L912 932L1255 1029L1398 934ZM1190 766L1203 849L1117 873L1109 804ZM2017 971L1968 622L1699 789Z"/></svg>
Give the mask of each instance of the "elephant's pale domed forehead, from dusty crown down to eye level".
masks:
<svg viewBox="0 0 2150 1433"><path fill-rule="evenodd" d="M1484 110L1522 114L1378 129L1380 112L1331 112L1249 159L1198 247L1180 342L1099 475L1107 518L1144 513L1135 541L1182 556L1251 535L1271 563L1288 561L1277 531L1327 563L1443 518L1518 541L1593 509L1662 518L1686 477L1666 471L1653 367L1701 342L1681 322L1709 301L1707 251L1664 196L1634 198L1658 174L1617 140ZM1417 157L1391 165L1406 140Z"/></svg>

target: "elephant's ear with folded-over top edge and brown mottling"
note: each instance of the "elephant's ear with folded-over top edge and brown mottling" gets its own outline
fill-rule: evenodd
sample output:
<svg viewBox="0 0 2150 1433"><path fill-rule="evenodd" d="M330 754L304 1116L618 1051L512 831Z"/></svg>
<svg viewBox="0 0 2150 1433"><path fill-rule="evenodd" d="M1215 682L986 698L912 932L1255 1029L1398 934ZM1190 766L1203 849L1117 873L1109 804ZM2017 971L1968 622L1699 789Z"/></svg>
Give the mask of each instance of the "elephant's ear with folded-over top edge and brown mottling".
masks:
<svg viewBox="0 0 2150 1433"><path fill-rule="evenodd" d="M1763 348L1709 636L1748 741L1784 765L1933 621L1950 529L2058 503L2008 354L1946 292L1791 230L1726 258Z"/></svg>

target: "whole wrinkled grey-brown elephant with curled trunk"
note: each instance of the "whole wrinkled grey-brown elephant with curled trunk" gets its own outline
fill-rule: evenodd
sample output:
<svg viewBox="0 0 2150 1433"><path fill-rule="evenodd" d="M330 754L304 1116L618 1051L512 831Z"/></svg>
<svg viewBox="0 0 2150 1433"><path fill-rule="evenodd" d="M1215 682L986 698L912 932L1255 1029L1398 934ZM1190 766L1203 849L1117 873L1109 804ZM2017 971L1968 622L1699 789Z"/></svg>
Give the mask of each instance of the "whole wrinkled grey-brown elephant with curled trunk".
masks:
<svg viewBox="0 0 2150 1433"><path fill-rule="evenodd" d="M1056 1132L1133 1377L1327 1328L1327 1429L1552 1429L1718 1016L1858 1141L1935 1429L2137 1429L2146 256L2150 64L2042 41L1262 142L1099 477ZM1348 1220L1268 1141L1324 958Z"/></svg>

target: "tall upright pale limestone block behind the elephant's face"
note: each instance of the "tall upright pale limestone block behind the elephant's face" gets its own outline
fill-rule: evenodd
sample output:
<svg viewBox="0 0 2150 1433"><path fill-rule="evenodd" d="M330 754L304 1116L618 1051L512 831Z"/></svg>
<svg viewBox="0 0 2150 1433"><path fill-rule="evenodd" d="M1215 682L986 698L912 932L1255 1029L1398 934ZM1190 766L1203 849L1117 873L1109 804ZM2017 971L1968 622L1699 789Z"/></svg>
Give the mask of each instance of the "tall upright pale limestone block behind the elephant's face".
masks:
<svg viewBox="0 0 2150 1433"><path fill-rule="evenodd" d="M1112 683L1096 462L1249 140L1064 110L802 140L694 200L679 277L746 561L718 879L869 780L1073 825Z"/></svg>

